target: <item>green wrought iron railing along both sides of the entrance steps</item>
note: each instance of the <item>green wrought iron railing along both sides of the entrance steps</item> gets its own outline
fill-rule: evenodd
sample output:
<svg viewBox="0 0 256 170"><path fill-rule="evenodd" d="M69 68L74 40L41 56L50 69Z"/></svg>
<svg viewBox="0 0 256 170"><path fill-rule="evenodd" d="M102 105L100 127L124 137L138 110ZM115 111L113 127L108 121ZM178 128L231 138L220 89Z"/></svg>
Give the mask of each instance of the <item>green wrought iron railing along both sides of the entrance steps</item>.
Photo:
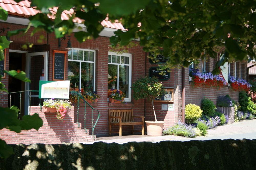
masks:
<svg viewBox="0 0 256 170"><path fill-rule="evenodd" d="M19 109L21 108L21 103L22 103L22 94L23 93L25 93L25 92L29 92L29 114L30 114L30 111L31 111L31 97L33 97L33 96L31 96L31 92L38 92L39 93L39 91L38 90L25 90L25 91L19 91L19 92L9 92L9 93L1 93L0 94L0 105L1 105L1 97L3 96L3 95L8 95L8 100L9 100L9 107L11 107L11 100L12 100L12 94L14 94L14 93L19 93L20 95L19 95ZM79 108L80 108L80 106L79 106L79 101L80 101L80 99L82 99L91 109L92 109L92 119L91 119L91 121L92 121L92 124L91 124L91 127L92 127L92 134L94 134L94 128L96 127L96 125L97 125L97 122L98 122L98 120L99 120L99 118L100 118L100 112L99 112L99 110L97 110L97 109L94 109L82 96L81 96L81 94L80 93L78 93L78 92L70 92L71 94L73 94L73 95L76 95L77 96L77 123L79 123ZM9 96L10 95L10 96ZM86 129L86 104L84 105L84 129ZM38 105L39 106L41 106L41 100L40 100L40 103L38 103ZM97 111L98 112L98 117L97 117L97 119L96 119L96 121L94 122L94 114L93 114L93 111ZM20 119L20 111L19 111L19 119Z"/></svg>

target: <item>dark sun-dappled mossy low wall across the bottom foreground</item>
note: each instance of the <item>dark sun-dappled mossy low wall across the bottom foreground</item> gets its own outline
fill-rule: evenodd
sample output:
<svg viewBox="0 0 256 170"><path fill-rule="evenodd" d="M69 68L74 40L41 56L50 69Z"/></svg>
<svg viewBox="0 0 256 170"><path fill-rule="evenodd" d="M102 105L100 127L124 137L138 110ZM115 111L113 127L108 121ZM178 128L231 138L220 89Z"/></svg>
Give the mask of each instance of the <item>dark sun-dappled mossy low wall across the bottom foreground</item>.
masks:
<svg viewBox="0 0 256 170"><path fill-rule="evenodd" d="M0 169L254 169L256 140L12 145Z"/></svg>

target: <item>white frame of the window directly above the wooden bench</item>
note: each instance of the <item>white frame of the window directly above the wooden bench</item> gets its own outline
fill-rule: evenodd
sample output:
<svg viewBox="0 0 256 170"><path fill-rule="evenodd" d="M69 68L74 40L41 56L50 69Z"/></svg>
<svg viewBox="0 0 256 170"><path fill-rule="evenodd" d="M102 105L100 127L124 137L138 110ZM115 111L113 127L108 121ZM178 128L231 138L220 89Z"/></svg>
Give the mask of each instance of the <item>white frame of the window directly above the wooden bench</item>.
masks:
<svg viewBox="0 0 256 170"><path fill-rule="evenodd" d="M118 65L118 69L117 69L117 87L116 89L119 90L119 65L127 65L129 66L129 84L128 84L128 98L125 98L124 101L126 102L130 102L132 101L132 90L131 90L131 87L132 87L132 54L130 53L122 53L122 54L118 54L118 53L115 53L115 52L109 52L108 55L118 55L118 56L125 56L125 57L129 57L129 64L119 64L119 63L109 63L108 64L113 64L113 65ZM112 60L112 57L111 57L111 60ZM116 59L115 59L116 60ZM120 60L121 62L121 60Z"/></svg>

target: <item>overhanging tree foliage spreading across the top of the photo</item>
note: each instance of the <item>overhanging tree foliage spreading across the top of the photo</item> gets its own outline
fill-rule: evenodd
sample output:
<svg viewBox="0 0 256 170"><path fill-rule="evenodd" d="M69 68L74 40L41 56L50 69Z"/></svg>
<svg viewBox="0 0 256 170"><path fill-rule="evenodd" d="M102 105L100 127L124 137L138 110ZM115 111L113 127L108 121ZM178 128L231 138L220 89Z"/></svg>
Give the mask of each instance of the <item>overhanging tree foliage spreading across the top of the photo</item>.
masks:
<svg viewBox="0 0 256 170"><path fill-rule="evenodd" d="M227 61L247 60L247 56L255 59L256 14L251 12L255 9L254 1L217 0L214 5L209 4L209 1L200 0L174 0L171 3L159 0L119 3L115 0L33 0L31 7L36 7L41 13L29 17L27 29L10 31L10 35L26 32L33 26L33 33L44 29L55 32L56 38L59 38L77 28L72 22L77 17L85 20L86 31L75 33L77 40L83 42L99 36L103 30L101 21L108 14L110 21L118 20L128 29L114 32L115 35L110 38L112 47L126 46L132 40L139 39L144 51L168 56L168 62L161 65L162 69L187 67L191 62L199 63L205 56L214 58L217 46L225 46L226 50L213 73L218 73L218 67ZM52 21L48 17L52 15L48 8L56 6L58 10ZM61 21L62 12L70 8L75 12L69 20ZM3 9L0 10L0 17L6 19ZM204 50L206 54L201 53Z"/></svg>

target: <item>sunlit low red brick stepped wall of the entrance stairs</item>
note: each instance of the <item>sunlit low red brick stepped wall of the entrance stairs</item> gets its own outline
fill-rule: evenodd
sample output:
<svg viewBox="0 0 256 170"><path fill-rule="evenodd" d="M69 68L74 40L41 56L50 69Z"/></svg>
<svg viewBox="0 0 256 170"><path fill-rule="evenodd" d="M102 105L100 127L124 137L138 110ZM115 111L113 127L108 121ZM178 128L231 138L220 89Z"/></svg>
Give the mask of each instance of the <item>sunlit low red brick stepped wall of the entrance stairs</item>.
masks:
<svg viewBox="0 0 256 170"><path fill-rule="evenodd" d="M81 129L81 124L78 127L78 123L74 123L74 107L68 111L63 120L58 120L54 113L40 111L39 106L31 106L31 114L34 113L38 113L44 122L38 131L31 129L16 133L8 129L1 129L0 138L5 140L7 144L55 144L63 142L89 142L95 139L94 136L89 135L89 131Z"/></svg>

